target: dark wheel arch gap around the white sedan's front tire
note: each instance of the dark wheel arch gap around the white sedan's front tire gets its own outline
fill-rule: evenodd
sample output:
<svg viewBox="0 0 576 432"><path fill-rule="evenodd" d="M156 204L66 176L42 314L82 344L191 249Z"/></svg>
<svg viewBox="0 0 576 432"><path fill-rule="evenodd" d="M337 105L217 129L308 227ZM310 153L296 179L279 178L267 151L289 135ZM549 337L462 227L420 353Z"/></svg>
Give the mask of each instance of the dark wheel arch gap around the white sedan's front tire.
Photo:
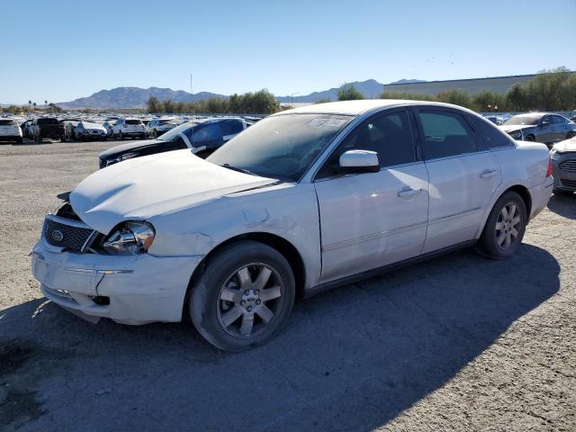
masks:
<svg viewBox="0 0 576 432"><path fill-rule="evenodd" d="M206 255L206 257L203 257L202 261L198 266L196 266L192 276L190 277L190 281L186 289L186 295L184 296L183 314L186 307L186 302L188 301L190 293L192 292L192 288L202 276L206 266L209 265L211 258L214 257L214 255L216 255L224 247L228 247L229 245L244 240L257 241L259 243L265 244L266 246L273 247L280 254L282 254L282 256L286 258L288 264L293 270L294 282L296 283L296 295L302 298L304 286L306 284L306 267L304 266L304 260L302 259L302 254L299 252L299 250L293 245L293 243L276 234L264 231L247 232L222 241L216 247L213 247L211 251Z"/></svg>

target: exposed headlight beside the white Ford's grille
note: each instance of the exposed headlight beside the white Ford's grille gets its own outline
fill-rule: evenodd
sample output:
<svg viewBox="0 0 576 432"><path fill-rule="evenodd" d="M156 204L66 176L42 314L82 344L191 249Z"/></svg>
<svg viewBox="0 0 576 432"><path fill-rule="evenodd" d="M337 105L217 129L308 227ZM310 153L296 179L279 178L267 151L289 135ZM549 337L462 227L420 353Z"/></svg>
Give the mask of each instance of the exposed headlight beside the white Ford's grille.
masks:
<svg viewBox="0 0 576 432"><path fill-rule="evenodd" d="M154 227L148 222L128 221L112 232L102 246L113 255L138 255L148 250L154 235Z"/></svg>

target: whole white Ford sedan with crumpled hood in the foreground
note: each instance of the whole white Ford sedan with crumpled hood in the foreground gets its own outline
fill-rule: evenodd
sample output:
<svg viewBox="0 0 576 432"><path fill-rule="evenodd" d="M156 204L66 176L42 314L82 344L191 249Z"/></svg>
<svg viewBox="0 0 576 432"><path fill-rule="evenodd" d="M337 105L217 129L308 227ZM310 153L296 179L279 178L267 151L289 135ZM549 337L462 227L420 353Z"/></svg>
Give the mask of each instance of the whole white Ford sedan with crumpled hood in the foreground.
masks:
<svg viewBox="0 0 576 432"><path fill-rule="evenodd" d="M49 300L86 318L187 313L238 351L275 336L297 294L458 247L512 257L551 171L544 144L455 105L310 105L205 160L176 150L88 176L46 216L31 267Z"/></svg>

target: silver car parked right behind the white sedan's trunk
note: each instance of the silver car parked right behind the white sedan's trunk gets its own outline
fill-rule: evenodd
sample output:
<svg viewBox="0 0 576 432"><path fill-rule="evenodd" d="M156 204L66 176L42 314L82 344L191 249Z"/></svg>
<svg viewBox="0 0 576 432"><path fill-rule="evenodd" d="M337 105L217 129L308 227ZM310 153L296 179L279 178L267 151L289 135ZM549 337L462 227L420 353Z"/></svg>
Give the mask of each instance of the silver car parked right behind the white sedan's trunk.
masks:
<svg viewBox="0 0 576 432"><path fill-rule="evenodd" d="M509 118L500 126L513 139L544 142L549 147L554 142L576 136L576 123L559 114L528 112Z"/></svg>

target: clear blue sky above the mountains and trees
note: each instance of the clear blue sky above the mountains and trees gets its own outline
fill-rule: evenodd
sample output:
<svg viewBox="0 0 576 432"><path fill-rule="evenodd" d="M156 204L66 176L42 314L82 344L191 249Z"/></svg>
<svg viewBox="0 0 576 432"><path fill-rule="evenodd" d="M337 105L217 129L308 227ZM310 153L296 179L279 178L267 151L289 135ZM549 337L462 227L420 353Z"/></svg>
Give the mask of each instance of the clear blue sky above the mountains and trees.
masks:
<svg viewBox="0 0 576 432"><path fill-rule="evenodd" d="M576 0L2 4L0 103L117 86L309 94L343 82L576 69Z"/></svg>

